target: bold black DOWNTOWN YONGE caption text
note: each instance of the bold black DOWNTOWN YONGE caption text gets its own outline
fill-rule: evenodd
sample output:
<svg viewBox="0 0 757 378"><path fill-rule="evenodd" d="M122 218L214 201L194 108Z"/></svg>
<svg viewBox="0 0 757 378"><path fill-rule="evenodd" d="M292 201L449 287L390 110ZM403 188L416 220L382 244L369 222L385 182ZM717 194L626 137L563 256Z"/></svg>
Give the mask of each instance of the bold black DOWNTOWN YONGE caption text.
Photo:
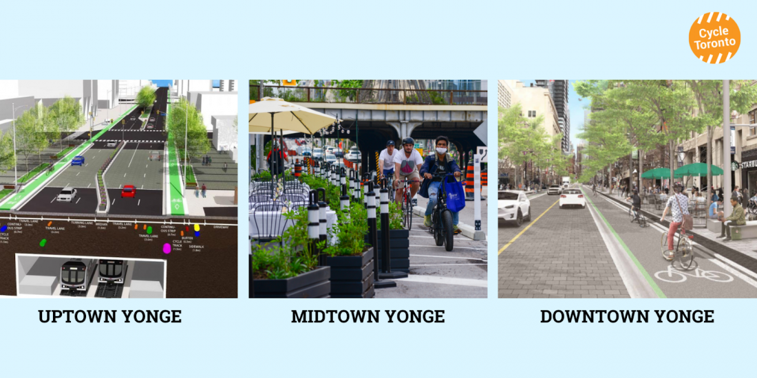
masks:
<svg viewBox="0 0 757 378"><path fill-rule="evenodd" d="M715 323L715 310L654 310L656 323ZM541 310L540 323L649 323L650 310ZM655 322L655 319L652 319Z"/></svg>

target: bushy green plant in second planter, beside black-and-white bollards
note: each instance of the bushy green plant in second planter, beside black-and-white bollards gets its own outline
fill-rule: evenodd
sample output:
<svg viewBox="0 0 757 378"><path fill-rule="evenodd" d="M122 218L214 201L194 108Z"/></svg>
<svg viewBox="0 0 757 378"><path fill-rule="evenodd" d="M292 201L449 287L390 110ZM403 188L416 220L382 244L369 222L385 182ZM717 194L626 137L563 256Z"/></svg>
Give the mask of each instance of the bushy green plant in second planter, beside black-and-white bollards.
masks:
<svg viewBox="0 0 757 378"><path fill-rule="evenodd" d="M368 212L361 203L350 203L343 211L337 209L338 223L329 229L330 240L337 237L336 244L326 243L323 251L329 256L355 256L363 253L366 247L365 237L368 232ZM349 216L347 216L349 215Z"/></svg>

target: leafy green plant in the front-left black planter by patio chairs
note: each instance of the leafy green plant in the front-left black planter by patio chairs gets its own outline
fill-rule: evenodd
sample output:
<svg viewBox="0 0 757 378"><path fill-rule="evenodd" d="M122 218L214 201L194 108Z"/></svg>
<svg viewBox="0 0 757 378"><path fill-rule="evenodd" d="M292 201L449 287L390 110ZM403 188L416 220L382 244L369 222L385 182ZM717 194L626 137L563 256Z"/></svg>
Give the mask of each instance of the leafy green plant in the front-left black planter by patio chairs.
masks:
<svg viewBox="0 0 757 378"><path fill-rule="evenodd" d="M283 280L312 271L318 265L307 237L307 208L285 213L292 225L266 246L252 246L252 271L256 280ZM283 240L283 245L281 246Z"/></svg>

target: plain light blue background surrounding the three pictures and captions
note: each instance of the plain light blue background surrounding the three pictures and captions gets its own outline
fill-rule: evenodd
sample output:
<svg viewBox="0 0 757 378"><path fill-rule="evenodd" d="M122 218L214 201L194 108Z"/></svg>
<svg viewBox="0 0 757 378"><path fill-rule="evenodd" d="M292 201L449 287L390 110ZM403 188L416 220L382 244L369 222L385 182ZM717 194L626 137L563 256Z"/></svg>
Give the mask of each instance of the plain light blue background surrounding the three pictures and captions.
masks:
<svg viewBox="0 0 757 378"><path fill-rule="evenodd" d="M687 43L709 11L740 26L725 64L702 64ZM748 78L757 58L752 2L6 2L2 15L0 79L237 77L240 125L247 79L488 79L492 150L497 79ZM244 126L239 141L244 166ZM240 206L243 298L246 214ZM496 222L488 234L490 299L0 300L0 376L754 374L754 300L495 299ZM181 309L182 324L38 321L39 309L95 308ZM292 309L360 308L444 309L446 323L290 323ZM621 308L714 309L715 324L539 323L540 309ZM61 348L74 337L77 349Z"/></svg>

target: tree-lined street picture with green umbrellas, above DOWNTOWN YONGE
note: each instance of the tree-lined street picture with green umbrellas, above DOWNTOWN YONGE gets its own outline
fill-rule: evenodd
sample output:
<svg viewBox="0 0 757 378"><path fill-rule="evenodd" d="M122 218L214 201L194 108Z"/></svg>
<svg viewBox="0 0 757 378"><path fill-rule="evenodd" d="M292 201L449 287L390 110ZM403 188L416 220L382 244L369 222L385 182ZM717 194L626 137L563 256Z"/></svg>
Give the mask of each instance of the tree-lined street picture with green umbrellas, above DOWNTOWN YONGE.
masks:
<svg viewBox="0 0 757 378"><path fill-rule="evenodd" d="M500 298L757 297L754 80L498 87Z"/></svg>

